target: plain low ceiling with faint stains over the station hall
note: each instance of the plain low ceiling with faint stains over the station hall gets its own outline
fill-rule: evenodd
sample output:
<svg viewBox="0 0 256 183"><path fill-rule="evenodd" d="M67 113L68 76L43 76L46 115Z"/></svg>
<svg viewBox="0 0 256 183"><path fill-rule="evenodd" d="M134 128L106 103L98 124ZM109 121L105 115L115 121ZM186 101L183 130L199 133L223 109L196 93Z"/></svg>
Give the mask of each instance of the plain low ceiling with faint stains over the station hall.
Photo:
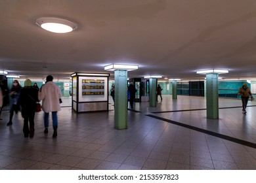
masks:
<svg viewBox="0 0 256 183"><path fill-rule="evenodd" d="M78 27L51 33L35 24L45 16ZM110 63L138 64L129 78L256 78L255 59L255 0L0 0L0 69L21 78L108 73Z"/></svg>

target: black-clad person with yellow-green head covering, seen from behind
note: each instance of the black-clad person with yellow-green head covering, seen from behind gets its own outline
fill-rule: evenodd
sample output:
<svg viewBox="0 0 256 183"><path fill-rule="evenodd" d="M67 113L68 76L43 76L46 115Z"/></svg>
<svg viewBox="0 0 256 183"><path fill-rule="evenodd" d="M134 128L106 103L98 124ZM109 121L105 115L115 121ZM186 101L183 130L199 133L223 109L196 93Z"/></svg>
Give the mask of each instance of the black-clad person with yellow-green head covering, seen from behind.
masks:
<svg viewBox="0 0 256 183"><path fill-rule="evenodd" d="M24 88L20 90L19 103L22 107L22 116L24 118L23 133L24 137L32 138L35 131L35 108L38 100L38 90L32 87L30 79L26 79L24 82ZM30 125L28 125L28 123Z"/></svg>

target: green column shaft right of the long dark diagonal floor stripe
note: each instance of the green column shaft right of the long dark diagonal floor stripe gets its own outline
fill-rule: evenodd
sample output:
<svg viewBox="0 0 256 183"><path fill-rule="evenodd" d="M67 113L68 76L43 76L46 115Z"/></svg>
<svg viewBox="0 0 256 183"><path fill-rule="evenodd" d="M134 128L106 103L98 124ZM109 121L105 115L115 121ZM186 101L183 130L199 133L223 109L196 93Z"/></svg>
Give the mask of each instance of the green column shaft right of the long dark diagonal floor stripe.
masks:
<svg viewBox="0 0 256 183"><path fill-rule="evenodd" d="M219 119L218 74L206 75L206 110L208 119Z"/></svg>

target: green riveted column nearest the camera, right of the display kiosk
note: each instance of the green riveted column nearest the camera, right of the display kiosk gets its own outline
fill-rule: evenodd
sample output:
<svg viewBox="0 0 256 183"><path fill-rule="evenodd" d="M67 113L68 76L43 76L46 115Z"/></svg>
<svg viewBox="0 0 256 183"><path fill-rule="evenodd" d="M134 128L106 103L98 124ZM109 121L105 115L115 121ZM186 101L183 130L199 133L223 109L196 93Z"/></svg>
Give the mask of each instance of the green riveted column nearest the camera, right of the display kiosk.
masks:
<svg viewBox="0 0 256 183"><path fill-rule="evenodd" d="M127 71L115 71L115 129L127 129Z"/></svg>

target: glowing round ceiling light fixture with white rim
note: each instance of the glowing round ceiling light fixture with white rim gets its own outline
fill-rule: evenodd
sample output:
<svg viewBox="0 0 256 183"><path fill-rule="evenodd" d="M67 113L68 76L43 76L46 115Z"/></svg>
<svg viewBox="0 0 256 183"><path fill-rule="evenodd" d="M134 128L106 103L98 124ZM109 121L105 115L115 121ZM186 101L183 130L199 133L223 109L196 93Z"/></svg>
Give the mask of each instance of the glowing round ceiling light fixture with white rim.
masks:
<svg viewBox="0 0 256 183"><path fill-rule="evenodd" d="M77 28L77 25L69 20L53 17L37 18L35 24L53 33L69 33Z"/></svg>

